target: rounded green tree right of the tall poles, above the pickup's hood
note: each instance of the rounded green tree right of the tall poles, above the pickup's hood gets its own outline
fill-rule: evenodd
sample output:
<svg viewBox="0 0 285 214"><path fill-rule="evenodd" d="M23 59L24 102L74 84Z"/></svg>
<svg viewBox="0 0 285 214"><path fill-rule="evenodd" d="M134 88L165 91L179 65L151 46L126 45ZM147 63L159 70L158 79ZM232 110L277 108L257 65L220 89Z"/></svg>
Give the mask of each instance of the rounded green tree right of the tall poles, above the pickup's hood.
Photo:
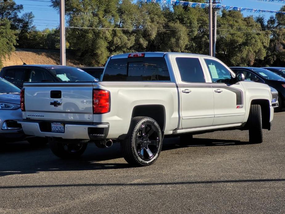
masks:
<svg viewBox="0 0 285 214"><path fill-rule="evenodd" d="M270 32L263 31L252 16L222 11L218 19L217 56L228 65L253 66L266 56Z"/></svg>

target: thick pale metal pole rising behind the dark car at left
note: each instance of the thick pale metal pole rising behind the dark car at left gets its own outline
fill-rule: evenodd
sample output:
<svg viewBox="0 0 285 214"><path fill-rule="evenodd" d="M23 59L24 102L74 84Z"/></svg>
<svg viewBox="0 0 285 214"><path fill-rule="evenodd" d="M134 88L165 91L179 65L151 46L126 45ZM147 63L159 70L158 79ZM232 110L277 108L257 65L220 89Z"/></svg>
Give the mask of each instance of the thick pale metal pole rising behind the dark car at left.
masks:
<svg viewBox="0 0 285 214"><path fill-rule="evenodd" d="M65 62L65 11L64 0L59 1L59 37L60 37L60 64L66 65Z"/></svg>

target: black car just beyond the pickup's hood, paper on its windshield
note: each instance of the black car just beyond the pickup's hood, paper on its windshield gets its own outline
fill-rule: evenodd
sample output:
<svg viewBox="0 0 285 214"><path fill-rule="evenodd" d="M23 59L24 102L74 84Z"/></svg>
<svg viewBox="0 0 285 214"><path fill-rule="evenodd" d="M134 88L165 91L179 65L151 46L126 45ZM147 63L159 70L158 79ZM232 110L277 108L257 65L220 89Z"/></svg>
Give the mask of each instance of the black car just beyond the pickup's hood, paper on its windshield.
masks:
<svg viewBox="0 0 285 214"><path fill-rule="evenodd" d="M285 78L279 76L264 68L253 67L230 67L235 73L243 73L246 80L265 83L272 88L275 88L278 93L279 107L276 110L281 110L285 103Z"/></svg>

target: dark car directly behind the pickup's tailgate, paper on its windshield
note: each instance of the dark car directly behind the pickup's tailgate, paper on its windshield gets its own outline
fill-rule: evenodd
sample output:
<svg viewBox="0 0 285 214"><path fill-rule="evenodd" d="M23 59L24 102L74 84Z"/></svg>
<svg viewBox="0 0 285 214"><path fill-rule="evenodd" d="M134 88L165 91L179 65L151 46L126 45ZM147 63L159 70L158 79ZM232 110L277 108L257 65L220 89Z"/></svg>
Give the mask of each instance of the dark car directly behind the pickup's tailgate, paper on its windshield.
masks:
<svg viewBox="0 0 285 214"><path fill-rule="evenodd" d="M24 82L98 81L79 68L62 65L14 65L1 69L0 76L22 88Z"/></svg>

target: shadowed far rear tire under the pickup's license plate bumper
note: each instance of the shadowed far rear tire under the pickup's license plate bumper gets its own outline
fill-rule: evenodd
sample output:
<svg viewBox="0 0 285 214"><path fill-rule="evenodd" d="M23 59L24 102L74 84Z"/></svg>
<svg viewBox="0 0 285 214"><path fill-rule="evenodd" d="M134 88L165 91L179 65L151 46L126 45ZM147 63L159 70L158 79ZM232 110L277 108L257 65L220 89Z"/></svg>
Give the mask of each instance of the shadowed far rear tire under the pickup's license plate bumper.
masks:
<svg viewBox="0 0 285 214"><path fill-rule="evenodd" d="M54 141L49 138L51 151L59 158L78 158L86 150L87 142L68 144L68 143Z"/></svg>

